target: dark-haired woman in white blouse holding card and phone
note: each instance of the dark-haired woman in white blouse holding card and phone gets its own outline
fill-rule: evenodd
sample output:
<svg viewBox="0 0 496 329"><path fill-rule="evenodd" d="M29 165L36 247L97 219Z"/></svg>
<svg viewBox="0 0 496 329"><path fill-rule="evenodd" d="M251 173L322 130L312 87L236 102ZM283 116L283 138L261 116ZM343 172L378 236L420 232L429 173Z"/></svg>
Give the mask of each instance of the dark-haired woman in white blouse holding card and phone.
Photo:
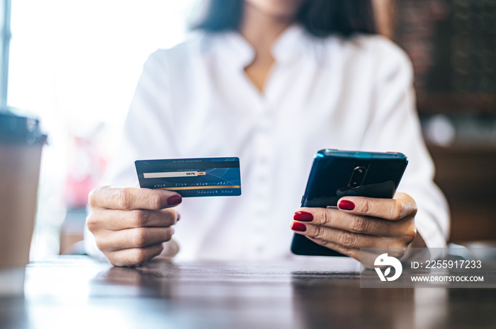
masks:
<svg viewBox="0 0 496 329"><path fill-rule="evenodd" d="M113 265L179 246L189 259L289 258L290 225L356 259L365 247L446 245L410 62L374 34L370 1L213 0L198 28L147 60L111 185L89 196L89 230ZM325 148L400 151L410 164L393 200L297 209L312 155ZM176 233L178 194L115 187L135 185L137 159L210 156L240 158L243 195L186 200Z"/></svg>

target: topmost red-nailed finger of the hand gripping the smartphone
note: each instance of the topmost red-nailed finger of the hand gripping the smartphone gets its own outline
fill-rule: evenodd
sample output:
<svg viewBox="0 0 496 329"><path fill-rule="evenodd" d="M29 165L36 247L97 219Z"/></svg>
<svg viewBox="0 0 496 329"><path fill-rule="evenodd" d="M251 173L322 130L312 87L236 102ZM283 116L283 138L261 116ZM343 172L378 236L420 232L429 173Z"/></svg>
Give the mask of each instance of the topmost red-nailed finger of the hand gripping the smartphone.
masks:
<svg viewBox="0 0 496 329"><path fill-rule="evenodd" d="M409 195L397 193L393 199L376 199L373 197L342 197L339 199L340 210L363 216L378 217L397 221L417 213L417 204Z"/></svg>

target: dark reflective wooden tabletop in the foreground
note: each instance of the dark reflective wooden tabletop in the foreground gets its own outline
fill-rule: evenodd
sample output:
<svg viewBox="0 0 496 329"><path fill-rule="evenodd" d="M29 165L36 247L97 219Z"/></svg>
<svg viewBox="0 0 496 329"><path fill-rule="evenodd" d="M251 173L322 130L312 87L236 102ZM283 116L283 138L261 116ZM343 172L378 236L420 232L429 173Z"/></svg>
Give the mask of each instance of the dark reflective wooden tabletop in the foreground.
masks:
<svg viewBox="0 0 496 329"><path fill-rule="evenodd" d="M33 262L0 328L496 328L496 289L361 289L305 262Z"/></svg>

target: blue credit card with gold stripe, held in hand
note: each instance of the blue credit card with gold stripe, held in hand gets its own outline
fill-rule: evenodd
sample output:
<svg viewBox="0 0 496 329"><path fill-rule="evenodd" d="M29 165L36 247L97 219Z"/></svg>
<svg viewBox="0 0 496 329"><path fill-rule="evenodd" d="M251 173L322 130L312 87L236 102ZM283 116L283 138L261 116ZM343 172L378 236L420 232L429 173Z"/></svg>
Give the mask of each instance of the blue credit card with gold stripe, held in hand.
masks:
<svg viewBox="0 0 496 329"><path fill-rule="evenodd" d="M239 158L171 158L135 161L140 187L162 188L182 197L241 195Z"/></svg>

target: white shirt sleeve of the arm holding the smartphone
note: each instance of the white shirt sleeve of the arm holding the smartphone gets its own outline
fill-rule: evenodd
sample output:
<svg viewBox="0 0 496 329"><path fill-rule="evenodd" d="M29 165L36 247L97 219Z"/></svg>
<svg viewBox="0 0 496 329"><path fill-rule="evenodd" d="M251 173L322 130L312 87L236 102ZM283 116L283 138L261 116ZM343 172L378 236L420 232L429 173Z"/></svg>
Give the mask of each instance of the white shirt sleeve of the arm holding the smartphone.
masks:
<svg viewBox="0 0 496 329"><path fill-rule="evenodd" d="M422 138L415 108L412 64L391 42L378 51L382 66L375 86L375 115L363 135L362 149L398 151L409 163L398 192L417 203L415 226L429 248L444 248L449 235L449 208L434 184L434 163ZM436 250L434 250L436 251Z"/></svg>

